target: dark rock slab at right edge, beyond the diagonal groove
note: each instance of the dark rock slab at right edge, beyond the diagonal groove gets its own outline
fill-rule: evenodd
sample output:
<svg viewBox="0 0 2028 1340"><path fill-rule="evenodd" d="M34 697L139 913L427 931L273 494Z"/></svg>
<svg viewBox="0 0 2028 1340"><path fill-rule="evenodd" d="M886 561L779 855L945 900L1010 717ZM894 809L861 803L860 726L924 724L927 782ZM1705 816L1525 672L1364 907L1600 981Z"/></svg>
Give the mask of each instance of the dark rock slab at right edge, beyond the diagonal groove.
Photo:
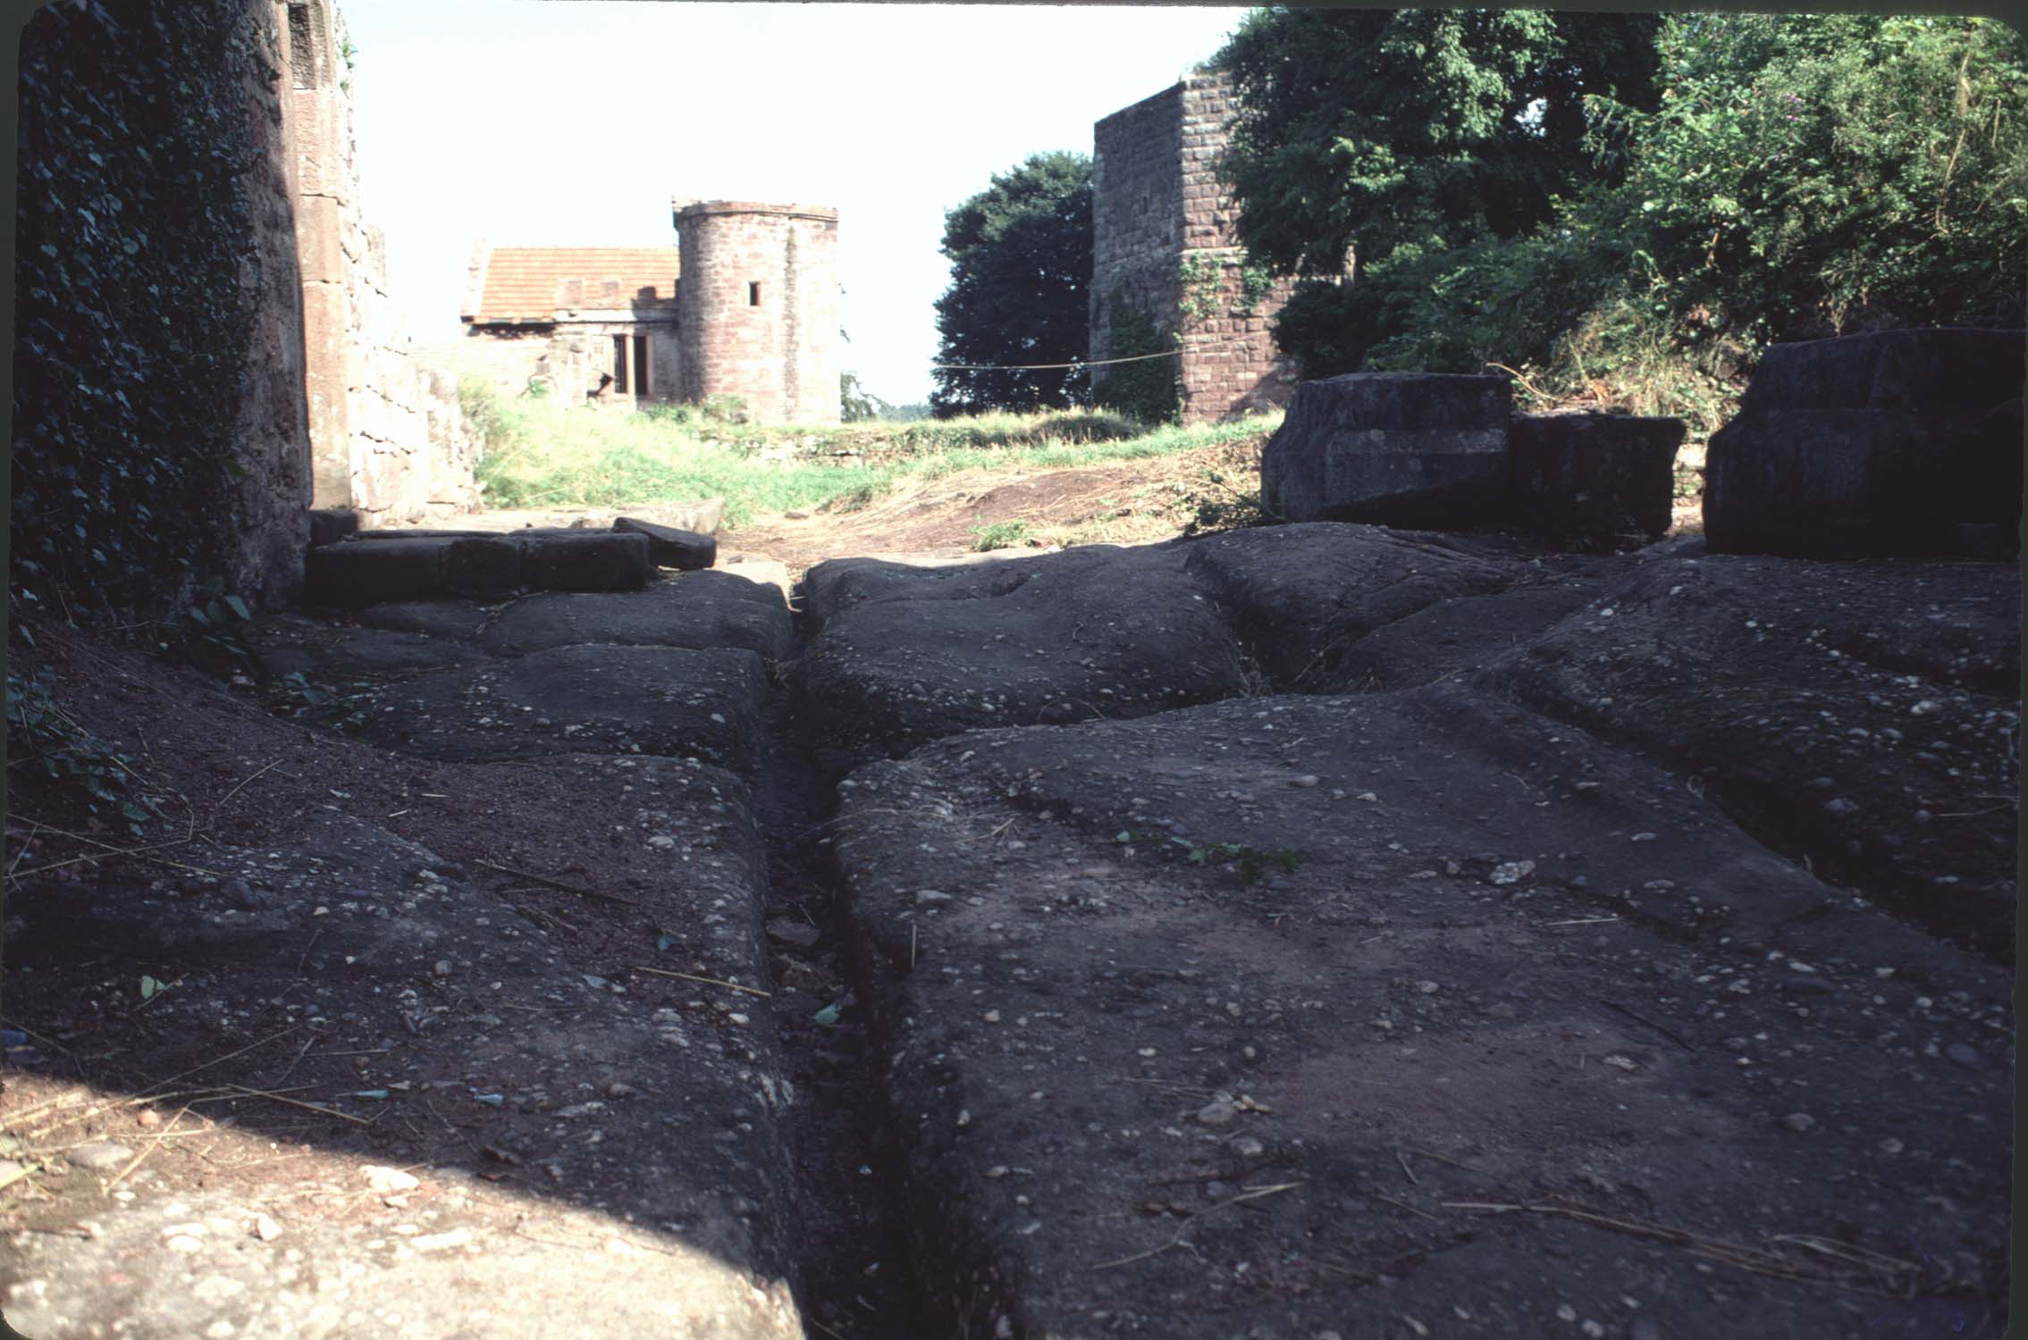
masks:
<svg viewBox="0 0 2028 1340"><path fill-rule="evenodd" d="M1685 772L1868 898L2012 959L2020 576L1651 549L1480 683Z"/></svg>

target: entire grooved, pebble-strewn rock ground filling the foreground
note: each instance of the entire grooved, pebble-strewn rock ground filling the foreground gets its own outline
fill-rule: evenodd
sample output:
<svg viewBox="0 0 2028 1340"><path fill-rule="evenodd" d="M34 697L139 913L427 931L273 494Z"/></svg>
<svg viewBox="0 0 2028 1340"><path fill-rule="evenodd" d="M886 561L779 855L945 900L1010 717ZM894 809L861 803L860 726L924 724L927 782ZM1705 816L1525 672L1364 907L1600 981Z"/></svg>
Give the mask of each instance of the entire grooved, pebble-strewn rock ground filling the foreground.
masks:
<svg viewBox="0 0 2028 1340"><path fill-rule="evenodd" d="M26 793L10 999L101 1109L8 1123L8 1318L2004 1330L2012 568L1316 523L803 596L264 626L367 744L73 693L217 762L140 860ZM116 1188L124 1095L203 1139Z"/></svg>

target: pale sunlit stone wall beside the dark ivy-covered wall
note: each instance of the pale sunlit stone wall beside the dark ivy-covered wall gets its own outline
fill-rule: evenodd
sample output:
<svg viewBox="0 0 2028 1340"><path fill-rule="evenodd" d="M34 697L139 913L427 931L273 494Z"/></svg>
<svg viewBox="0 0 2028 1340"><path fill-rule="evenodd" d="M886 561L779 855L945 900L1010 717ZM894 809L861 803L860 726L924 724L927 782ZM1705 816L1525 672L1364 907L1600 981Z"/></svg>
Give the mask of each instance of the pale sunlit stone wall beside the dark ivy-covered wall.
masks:
<svg viewBox="0 0 2028 1340"><path fill-rule="evenodd" d="M282 8L314 505L349 507L367 527L470 511L479 505L473 452L432 456L432 420L450 442L466 436L448 428L456 385L444 397L442 379L418 367L387 294L385 237L359 205L345 20L320 0Z"/></svg>

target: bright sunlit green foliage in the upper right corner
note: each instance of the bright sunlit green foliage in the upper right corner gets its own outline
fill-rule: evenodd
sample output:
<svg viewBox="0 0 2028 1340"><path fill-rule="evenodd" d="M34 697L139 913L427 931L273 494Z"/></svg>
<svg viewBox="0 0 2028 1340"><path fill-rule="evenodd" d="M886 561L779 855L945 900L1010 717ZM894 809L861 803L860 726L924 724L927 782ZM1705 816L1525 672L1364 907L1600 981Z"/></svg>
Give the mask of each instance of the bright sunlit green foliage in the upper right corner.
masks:
<svg viewBox="0 0 2028 1340"><path fill-rule="evenodd" d="M1614 109L1614 203L1673 310L1752 345L2020 322L2018 32L1985 18L1687 14L1661 57L1657 107Z"/></svg>

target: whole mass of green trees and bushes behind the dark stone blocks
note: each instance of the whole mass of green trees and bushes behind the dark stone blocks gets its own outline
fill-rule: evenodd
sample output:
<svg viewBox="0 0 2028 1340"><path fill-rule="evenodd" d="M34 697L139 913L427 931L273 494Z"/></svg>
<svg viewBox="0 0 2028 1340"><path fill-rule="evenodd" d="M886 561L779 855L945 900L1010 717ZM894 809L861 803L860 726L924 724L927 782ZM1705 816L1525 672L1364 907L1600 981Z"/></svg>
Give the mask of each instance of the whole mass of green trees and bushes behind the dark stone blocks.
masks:
<svg viewBox="0 0 2028 1340"><path fill-rule="evenodd" d="M1511 57L1474 45L1495 20ZM1306 377L1495 367L1701 438L1768 343L2022 322L2028 43L2000 22L1268 10L1223 59L1259 99L1239 231L1304 276L1276 339ZM1527 162L1553 189L1495 215Z"/></svg>

